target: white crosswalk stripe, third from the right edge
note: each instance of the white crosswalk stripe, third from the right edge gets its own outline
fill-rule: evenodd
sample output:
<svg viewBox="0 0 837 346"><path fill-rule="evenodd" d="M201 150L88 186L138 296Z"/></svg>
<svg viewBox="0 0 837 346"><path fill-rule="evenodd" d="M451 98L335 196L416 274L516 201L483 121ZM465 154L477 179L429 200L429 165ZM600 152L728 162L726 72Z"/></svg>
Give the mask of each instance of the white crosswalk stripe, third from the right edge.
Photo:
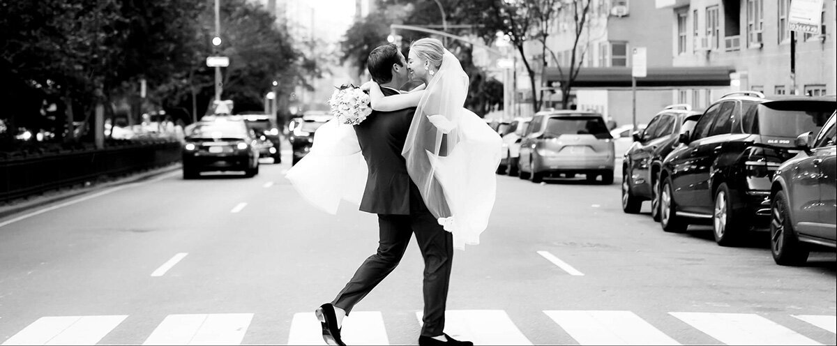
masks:
<svg viewBox="0 0 837 346"><path fill-rule="evenodd" d="M634 312L545 311L583 345L679 345Z"/></svg>

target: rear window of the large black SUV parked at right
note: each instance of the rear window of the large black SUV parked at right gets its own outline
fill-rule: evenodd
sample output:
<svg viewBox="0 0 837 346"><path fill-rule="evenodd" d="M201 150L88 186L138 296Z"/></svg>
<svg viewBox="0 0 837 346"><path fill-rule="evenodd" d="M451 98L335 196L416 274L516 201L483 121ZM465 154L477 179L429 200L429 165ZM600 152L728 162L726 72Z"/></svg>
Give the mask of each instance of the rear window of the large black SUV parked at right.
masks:
<svg viewBox="0 0 837 346"><path fill-rule="evenodd" d="M797 137L804 132L818 132L834 113L833 102L784 101L758 105L752 123L745 121L745 132L771 137ZM747 117L745 117L747 120Z"/></svg>

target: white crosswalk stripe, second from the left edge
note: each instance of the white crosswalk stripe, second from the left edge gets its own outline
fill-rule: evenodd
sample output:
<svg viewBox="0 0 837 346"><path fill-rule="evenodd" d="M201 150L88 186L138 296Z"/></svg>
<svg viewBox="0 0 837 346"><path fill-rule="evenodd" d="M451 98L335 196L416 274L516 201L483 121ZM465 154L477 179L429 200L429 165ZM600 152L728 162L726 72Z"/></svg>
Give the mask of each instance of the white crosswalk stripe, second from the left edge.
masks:
<svg viewBox="0 0 837 346"><path fill-rule="evenodd" d="M252 313L168 315L144 345L237 345Z"/></svg>

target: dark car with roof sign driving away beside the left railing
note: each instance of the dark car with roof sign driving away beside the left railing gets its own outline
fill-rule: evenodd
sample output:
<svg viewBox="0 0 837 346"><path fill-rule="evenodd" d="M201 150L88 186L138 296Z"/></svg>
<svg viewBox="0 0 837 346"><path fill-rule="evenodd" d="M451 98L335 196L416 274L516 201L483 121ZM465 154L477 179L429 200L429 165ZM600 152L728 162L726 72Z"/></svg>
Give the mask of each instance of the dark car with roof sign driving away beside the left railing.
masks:
<svg viewBox="0 0 837 346"><path fill-rule="evenodd" d="M259 173L256 134L244 121L218 118L193 125L183 145L184 179L207 171L244 171L248 178Z"/></svg>

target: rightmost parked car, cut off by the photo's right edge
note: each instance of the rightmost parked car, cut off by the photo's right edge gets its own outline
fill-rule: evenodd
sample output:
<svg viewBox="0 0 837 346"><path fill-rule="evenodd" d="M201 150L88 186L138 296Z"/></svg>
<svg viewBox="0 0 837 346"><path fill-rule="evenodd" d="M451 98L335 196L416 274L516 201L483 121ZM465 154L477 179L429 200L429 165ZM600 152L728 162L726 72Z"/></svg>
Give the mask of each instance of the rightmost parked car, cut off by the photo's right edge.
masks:
<svg viewBox="0 0 837 346"><path fill-rule="evenodd" d="M837 113L816 137L806 132L796 140L799 152L773 176L770 191L770 250L782 266L802 265L811 245L837 248Z"/></svg>

